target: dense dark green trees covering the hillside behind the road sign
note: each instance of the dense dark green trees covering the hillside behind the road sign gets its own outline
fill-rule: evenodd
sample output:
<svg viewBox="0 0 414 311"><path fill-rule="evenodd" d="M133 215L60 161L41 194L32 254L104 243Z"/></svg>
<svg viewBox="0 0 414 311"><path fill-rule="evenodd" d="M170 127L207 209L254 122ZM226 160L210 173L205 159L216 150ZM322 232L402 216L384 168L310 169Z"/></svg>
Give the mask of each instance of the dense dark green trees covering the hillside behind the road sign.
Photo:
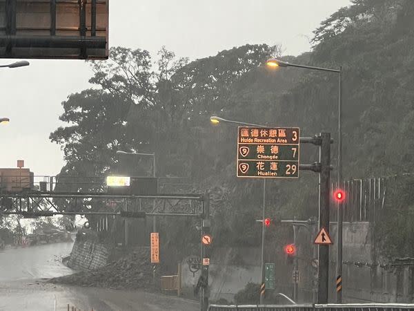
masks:
<svg viewBox="0 0 414 311"><path fill-rule="evenodd" d="M355 0L315 30L311 53L283 58L342 66L345 178L400 174L413 167L413 32L413 1ZM108 62L91 62L95 87L63 102L61 120L68 126L50 135L65 154L61 175L121 171L117 150L155 152L159 176L199 178L211 189L215 233L222 237L217 243L255 243L262 181L235 177L236 129L210 126L210 115L299 126L302 135L329 131L337 140L337 75L259 66L277 51L242 46L188 62L163 48L154 62L146 50L112 48ZM334 144L333 164L336 157ZM302 149L301 162L316 160L315 147ZM149 174L144 164L129 173ZM268 182L270 216L317 215L317 176L300 175L295 181ZM411 201L402 207L411 209ZM190 234L183 243L186 239Z"/></svg>

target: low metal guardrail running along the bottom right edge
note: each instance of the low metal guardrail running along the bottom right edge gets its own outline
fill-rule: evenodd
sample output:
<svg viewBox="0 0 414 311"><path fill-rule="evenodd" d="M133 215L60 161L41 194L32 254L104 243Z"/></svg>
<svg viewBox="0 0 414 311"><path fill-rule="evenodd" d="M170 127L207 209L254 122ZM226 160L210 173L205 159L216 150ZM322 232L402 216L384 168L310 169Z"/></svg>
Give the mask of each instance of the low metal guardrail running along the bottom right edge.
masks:
<svg viewBox="0 0 414 311"><path fill-rule="evenodd" d="M208 311L406 311L414 303L344 303L327 305L209 305Z"/></svg>

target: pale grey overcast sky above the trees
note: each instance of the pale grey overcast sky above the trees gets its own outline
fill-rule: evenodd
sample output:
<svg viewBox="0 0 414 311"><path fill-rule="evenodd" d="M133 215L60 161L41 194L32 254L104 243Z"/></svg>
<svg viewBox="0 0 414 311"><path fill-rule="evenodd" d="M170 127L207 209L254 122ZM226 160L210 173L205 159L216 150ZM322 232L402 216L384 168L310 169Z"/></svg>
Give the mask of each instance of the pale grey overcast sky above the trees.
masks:
<svg viewBox="0 0 414 311"><path fill-rule="evenodd" d="M197 59L244 44L282 44L285 55L310 50L319 23L349 0L111 0L110 46L156 53L163 45ZM0 64L14 62L0 59ZM30 60L23 68L0 68L0 167L25 167L53 176L63 153L50 142L61 124L61 102L88 88L92 73L83 61Z"/></svg>

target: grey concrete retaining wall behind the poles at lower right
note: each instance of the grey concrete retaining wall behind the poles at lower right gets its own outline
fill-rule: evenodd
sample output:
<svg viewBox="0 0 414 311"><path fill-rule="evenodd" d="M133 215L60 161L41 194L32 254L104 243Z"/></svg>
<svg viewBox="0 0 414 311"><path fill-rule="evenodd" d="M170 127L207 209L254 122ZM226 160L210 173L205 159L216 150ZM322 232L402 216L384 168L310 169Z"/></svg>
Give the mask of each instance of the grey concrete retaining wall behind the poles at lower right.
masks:
<svg viewBox="0 0 414 311"><path fill-rule="evenodd" d="M297 258L299 265L298 302L312 303L316 296L315 275L317 269L312 262L317 258L317 247L313 245L317 228L301 227L297 232ZM335 301L337 228L331 225L331 238L334 244L330 247L330 301ZM411 302L413 301L414 272L411 267L399 270L386 270L384 267L372 265L373 234L369 223L344 223L343 273L344 302ZM293 296L293 265L286 261L282 251L282 241L266 240L266 263L275 263L275 281L277 292ZM234 296L242 290L246 283L259 283L261 279L261 248L238 247L213 249L210 258L210 299L217 301L224 298L233 301ZM183 261L182 285L184 293L193 294L199 272L194 276L188 270L186 260Z"/></svg>

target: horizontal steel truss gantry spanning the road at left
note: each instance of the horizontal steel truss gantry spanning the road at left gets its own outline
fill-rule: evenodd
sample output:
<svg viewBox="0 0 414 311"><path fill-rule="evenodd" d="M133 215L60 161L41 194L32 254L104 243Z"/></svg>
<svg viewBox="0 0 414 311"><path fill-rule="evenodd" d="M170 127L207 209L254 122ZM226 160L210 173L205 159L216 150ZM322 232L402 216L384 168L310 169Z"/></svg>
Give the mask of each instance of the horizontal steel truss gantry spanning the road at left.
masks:
<svg viewBox="0 0 414 311"><path fill-rule="evenodd" d="M0 214L26 217L53 215L197 216L204 214L202 194L126 196L104 193L30 191L0 194Z"/></svg>

